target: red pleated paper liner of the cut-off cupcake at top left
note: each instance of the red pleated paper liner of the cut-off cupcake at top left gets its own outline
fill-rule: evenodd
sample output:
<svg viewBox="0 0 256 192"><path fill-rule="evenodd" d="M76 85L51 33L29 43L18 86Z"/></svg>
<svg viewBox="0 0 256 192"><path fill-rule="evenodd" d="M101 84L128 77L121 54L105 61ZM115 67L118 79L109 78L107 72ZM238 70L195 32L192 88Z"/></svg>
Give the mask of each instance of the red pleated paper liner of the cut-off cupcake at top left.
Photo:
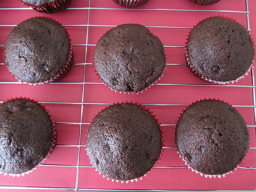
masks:
<svg viewBox="0 0 256 192"><path fill-rule="evenodd" d="M60 12L61 10L66 9L71 3L71 0L56 0L55 2L46 3L41 6L35 6L32 4L25 3L22 0L18 0L18 1L28 7L33 8L38 12L48 13L48 14Z"/></svg>

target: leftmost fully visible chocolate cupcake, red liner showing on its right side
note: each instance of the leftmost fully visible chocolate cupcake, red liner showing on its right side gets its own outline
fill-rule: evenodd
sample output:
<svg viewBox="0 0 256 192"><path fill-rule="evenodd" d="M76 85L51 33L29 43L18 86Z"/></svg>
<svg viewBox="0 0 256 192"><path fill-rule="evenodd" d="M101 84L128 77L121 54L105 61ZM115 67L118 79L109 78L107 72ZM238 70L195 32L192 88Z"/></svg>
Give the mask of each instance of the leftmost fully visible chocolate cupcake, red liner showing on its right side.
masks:
<svg viewBox="0 0 256 192"><path fill-rule="evenodd" d="M18 24L6 39L5 61L19 80L42 84L60 79L73 64L65 28L52 19L34 17Z"/></svg>

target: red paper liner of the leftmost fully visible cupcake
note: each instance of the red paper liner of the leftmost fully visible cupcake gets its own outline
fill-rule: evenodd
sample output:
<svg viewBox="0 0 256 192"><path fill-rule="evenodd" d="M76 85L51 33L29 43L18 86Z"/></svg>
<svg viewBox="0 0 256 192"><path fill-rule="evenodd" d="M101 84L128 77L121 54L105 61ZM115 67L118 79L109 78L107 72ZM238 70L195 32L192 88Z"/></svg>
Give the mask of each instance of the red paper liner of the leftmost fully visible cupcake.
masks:
<svg viewBox="0 0 256 192"><path fill-rule="evenodd" d="M44 17L44 16L43 16ZM54 20L55 22L57 22L58 24L62 25L60 22L58 22L57 20L55 20L54 18L51 18L51 17L46 17L48 19L51 19L51 20ZM62 25L63 26L63 25ZM64 26L63 26L64 27ZM71 69L72 65L74 64L74 54L73 54L73 48L72 48L72 42L71 42L71 38L70 38L70 35L68 34L68 31L67 29L64 27L64 29L66 30L66 33L68 35L68 38L69 38L69 44L70 44L70 47L69 47L69 54L68 54L68 57L67 57L67 60L63 66L63 68L60 70L60 72L58 72L58 74L54 75L54 77L50 78L49 80L46 80L46 81L43 81L43 82L38 82L38 83L29 83L29 82L24 82L22 80L20 80L19 78L17 78L16 76L14 76L14 74L12 74L10 72L10 74L16 78L16 80L18 80L18 82L22 82L22 84L28 84L28 85L42 85L42 84L45 84L45 83L50 83L50 82L55 82L57 80L60 80L61 78L63 78ZM5 57L5 55L4 55ZM4 63L5 66L6 66L6 63Z"/></svg>

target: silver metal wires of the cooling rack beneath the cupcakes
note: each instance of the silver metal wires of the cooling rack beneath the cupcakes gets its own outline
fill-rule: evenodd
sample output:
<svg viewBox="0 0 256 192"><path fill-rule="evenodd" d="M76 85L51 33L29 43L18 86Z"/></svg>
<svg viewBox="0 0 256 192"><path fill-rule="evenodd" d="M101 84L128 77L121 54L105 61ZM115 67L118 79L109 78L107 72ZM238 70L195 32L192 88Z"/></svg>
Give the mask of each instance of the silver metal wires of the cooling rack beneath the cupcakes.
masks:
<svg viewBox="0 0 256 192"><path fill-rule="evenodd" d="M81 102L45 102L45 101L39 101L42 104L58 104L58 105L78 105L81 106L81 111L80 111L80 121L78 122L56 122L56 124L68 124L68 125L78 125L79 126L79 141L78 144L57 144L56 147L62 148L62 147L72 147L72 148L78 148L78 156L77 156L77 164L76 165L60 165L60 164L42 164L41 166L46 166L46 167L70 167L70 168L76 168L76 184L74 188L61 188L61 187L32 187L32 186L7 186L4 184L0 184L0 189L11 189L11 190L67 190L67 191L122 191L122 192L128 192L128 191L138 191L138 192L145 192L145 191L166 191L166 192L171 192L171 191L177 191L177 190L147 190L147 189L109 189L109 188L81 188L79 187L79 171L81 168L86 168L86 169L92 169L93 166L83 166L80 165L80 153L81 149L85 148L86 146L82 144L82 126L83 125L90 125L90 122L84 122L83 117L84 117L84 106L86 105L99 105L99 106L105 106L105 105L110 105L112 103L109 102L86 102L85 100L85 92L86 92L86 85L103 85L104 83L102 82L86 82L86 68L87 66L92 66L92 62L88 62L88 48L89 47L94 47L96 44L88 44L88 33L89 33L89 27L114 27L116 25L95 25L95 24L90 24L90 11L91 10L126 10L126 11L131 11L131 10L141 10L141 11L178 11L178 12L184 12L184 11L189 11L189 12L221 12L221 13L240 13L240 14L246 14L247 18L247 28L248 31L250 32L250 20L249 20L249 9L248 9L248 0L245 0L246 3L246 10L245 11L228 11L228 10L187 10L187 9L146 9L146 8L136 8L136 9L125 9L125 8L96 8L96 7L91 7L91 0L89 0L88 7L79 7L79 8L68 8L68 10L88 10L88 19L87 19L87 24L80 24L80 25L75 25L75 24L64 24L66 27L86 27L86 42L85 44L73 44L72 46L74 47L84 47L85 48L85 55L84 55L84 63L75 63L74 65L77 66L84 66L83 67L83 81L82 82L52 82L50 84L66 84L66 85L82 85L82 98ZM0 8L1 10L31 10L31 8ZM3 27L14 27L16 25L0 25L0 28ZM166 28L166 29L191 29L192 27L176 27L176 26L146 26L148 28ZM0 45L0 47L4 47L4 45ZM184 49L184 46L172 46L172 45L164 45L164 48L182 48ZM0 63L0 65L4 65L4 63ZM167 67L172 67L172 66L185 66L186 64L176 64L176 63L167 63ZM252 84L248 85L236 85L236 84L226 84L226 85L219 85L219 84L171 84L171 83L156 83L154 86L168 86L168 87L174 87L174 86L193 86L193 87L222 87L222 88L229 88L229 87L234 87L234 88L249 88L252 90L252 98L253 98L253 105L233 105L234 107L238 108L253 108L254 110L254 124L248 124L248 128L255 128L256 127L256 95L255 95L255 81L254 81L254 70L251 70L251 82ZM9 84L10 86L14 84L22 84L21 82L13 82L13 81L1 81L1 84ZM0 101L2 103L4 101ZM144 106L178 106L178 107L185 107L188 106L189 104L161 104L161 103L142 103ZM175 124L161 124L162 127L174 127ZM163 149L175 149L175 147L172 146L164 146ZM250 147L250 150L256 150L256 147ZM255 158L255 157L254 157ZM172 168L178 168L178 169L187 169L187 166L155 166L153 169L172 169ZM247 166L239 166L239 169L249 169L249 170L255 170L256 167L247 167ZM183 191L183 190L179 190ZM206 190L193 190L193 191L206 191ZM215 191L215 190L207 190L209 191ZM238 191L238 190L222 190L222 191ZM250 190L239 190L239 191L250 191ZM255 190L251 190L255 191Z"/></svg>

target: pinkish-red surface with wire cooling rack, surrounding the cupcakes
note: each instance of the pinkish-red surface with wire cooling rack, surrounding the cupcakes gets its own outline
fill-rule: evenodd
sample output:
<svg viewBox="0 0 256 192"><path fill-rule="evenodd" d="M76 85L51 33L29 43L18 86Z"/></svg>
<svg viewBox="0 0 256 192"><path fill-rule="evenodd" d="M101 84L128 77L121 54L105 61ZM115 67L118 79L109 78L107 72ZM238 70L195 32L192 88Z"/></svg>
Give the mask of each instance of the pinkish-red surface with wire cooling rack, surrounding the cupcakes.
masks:
<svg viewBox="0 0 256 192"><path fill-rule="evenodd" d="M25 176L0 175L0 191L255 191L256 98L254 70L234 84L210 84L193 76L185 65L184 43L200 20L220 15L236 19L252 37L256 30L255 0L222 0L199 6L188 0L150 0L125 9L112 0L73 0L67 10L46 15L16 0L0 2L0 103L29 97L44 104L58 131L50 157ZM249 13L250 11L250 13ZM14 26L33 16L50 16L66 26L73 43L75 65L59 82L29 86L17 82L4 65L5 40ZM140 94L119 94L104 86L94 72L95 45L107 30L123 23L147 26L164 44L166 70L161 80ZM204 98L224 100L242 114L250 132L248 154L233 174L205 178L192 172L176 154L174 126L182 110ZM158 164L138 182L111 182L90 164L86 132L94 116L117 102L138 102L150 108L163 130L163 151Z"/></svg>

